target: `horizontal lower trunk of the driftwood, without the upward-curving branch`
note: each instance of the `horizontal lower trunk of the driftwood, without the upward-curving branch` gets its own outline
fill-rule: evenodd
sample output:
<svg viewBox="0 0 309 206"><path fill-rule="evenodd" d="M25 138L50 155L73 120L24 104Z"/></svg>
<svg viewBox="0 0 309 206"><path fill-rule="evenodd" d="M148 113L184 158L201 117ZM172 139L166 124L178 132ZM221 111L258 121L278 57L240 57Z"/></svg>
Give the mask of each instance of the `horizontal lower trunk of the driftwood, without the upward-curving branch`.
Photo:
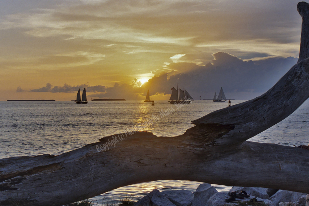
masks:
<svg viewBox="0 0 309 206"><path fill-rule="evenodd" d="M115 148L98 152L95 146L103 142L56 157L1 160L1 199L26 197L38 205L62 205L162 179L309 192L309 155L301 148L246 141L203 149L201 142L186 135L155 137L148 132L137 132Z"/></svg>

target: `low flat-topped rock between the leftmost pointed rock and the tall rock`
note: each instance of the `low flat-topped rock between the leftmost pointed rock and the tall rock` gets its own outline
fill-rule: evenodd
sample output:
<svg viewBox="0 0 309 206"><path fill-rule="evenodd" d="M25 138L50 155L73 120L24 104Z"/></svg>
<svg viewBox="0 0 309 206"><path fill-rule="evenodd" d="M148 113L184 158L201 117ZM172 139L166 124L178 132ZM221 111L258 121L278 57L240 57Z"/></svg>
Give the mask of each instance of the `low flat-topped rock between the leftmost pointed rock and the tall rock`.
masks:
<svg viewBox="0 0 309 206"><path fill-rule="evenodd" d="M167 190L161 194L177 206L191 206L194 196L188 190Z"/></svg>

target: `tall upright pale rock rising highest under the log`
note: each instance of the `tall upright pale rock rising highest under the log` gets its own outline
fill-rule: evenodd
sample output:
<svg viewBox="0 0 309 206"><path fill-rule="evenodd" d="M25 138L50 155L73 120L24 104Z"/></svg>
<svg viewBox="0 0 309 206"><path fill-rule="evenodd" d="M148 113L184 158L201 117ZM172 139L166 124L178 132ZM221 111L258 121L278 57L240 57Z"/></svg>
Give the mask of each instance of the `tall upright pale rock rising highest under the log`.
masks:
<svg viewBox="0 0 309 206"><path fill-rule="evenodd" d="M194 193L192 206L205 206L210 197L215 193L218 193L218 191L211 184L200 184Z"/></svg>

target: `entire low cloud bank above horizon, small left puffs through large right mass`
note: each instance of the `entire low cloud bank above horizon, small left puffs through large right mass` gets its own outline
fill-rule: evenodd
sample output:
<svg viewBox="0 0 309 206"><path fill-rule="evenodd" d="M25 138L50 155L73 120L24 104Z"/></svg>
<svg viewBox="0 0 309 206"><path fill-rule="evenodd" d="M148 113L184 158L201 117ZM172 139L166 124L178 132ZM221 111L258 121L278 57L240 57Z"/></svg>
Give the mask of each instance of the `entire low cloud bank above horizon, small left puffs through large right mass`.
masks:
<svg viewBox="0 0 309 206"><path fill-rule="evenodd" d="M115 83L111 87L89 86L54 86L47 83L46 87L33 89L36 92L76 92L86 86L88 96L97 98L117 98L127 100L141 100L149 89L150 95L161 95L168 99L170 89L185 88L194 99L212 99L214 92L221 87L229 99L252 99L271 88L294 64L294 57L270 57L256 61L243 61L228 53L214 53L212 64L196 65L191 62L171 63L171 71L157 70L154 77L141 84L135 78L130 84ZM163 71L159 74L159 71ZM92 93L92 94L91 94Z"/></svg>

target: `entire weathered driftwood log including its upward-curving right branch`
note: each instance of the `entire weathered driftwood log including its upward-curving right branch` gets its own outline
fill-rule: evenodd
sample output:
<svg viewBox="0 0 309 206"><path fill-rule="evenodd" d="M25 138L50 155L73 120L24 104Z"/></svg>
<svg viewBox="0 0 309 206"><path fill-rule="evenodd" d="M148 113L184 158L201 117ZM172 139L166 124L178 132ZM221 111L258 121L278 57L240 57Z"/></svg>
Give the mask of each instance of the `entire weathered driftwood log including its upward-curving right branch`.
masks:
<svg viewBox="0 0 309 206"><path fill-rule="evenodd" d="M112 136L58 156L1 159L0 201L63 205L163 179L309 193L309 151L246 141L309 97L309 4L297 9L303 18L299 61L264 95L194 120L177 137L135 132L120 135L123 140L117 135L116 147L106 151L98 149Z"/></svg>

